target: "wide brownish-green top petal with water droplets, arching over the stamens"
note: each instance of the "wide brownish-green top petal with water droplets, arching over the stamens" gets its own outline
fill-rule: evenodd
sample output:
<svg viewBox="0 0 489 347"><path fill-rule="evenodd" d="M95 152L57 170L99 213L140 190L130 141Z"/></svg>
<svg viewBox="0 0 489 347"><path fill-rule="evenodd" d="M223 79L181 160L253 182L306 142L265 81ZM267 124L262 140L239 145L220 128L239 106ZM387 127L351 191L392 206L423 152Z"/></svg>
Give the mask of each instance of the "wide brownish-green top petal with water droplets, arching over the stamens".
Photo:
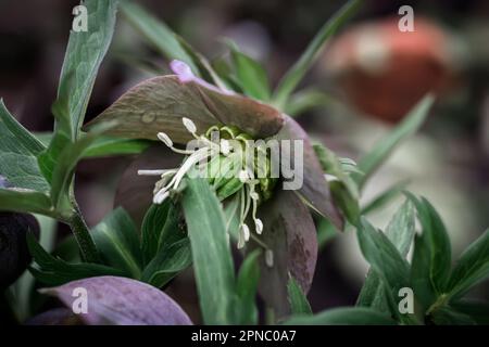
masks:
<svg viewBox="0 0 489 347"><path fill-rule="evenodd" d="M213 87L213 86L212 86ZM280 129L281 114L266 104L239 94L229 94L195 79L160 76L142 81L86 125L117 120L108 134L134 139L155 139L159 131L176 143L192 139L181 123L191 119L198 133L213 125L236 126L253 137L265 138Z"/></svg>

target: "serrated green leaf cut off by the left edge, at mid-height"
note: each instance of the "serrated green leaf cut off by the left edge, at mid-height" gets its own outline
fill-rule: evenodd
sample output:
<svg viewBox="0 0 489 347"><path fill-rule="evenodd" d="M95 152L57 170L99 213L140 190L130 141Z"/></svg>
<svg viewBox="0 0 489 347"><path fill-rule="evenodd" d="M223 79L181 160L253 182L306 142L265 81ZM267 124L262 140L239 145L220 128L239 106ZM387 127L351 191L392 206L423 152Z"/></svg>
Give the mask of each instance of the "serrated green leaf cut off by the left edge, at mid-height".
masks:
<svg viewBox="0 0 489 347"><path fill-rule="evenodd" d="M0 175L7 179L8 187L49 191L36 159L43 149L42 143L15 120L0 99Z"/></svg>

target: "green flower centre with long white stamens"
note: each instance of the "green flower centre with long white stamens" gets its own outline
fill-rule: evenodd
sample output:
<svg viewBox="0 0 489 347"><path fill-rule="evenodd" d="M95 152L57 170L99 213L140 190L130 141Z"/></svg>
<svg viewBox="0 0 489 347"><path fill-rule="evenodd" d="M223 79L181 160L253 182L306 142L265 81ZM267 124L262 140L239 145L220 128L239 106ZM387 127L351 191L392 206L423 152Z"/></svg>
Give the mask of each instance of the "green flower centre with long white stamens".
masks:
<svg viewBox="0 0 489 347"><path fill-rule="evenodd" d="M139 170L138 174L160 176L154 185L154 204L163 203L190 172L205 177L220 201L238 198L238 248L241 248L252 236L249 219L256 234L263 231L263 222L256 217L258 207L272 196L277 182L277 178L271 177L269 153L236 127L213 126L199 136L193 121L184 117L183 124L193 137L185 150L175 147L166 133L158 133L172 151L186 155L181 166L168 170Z"/></svg>

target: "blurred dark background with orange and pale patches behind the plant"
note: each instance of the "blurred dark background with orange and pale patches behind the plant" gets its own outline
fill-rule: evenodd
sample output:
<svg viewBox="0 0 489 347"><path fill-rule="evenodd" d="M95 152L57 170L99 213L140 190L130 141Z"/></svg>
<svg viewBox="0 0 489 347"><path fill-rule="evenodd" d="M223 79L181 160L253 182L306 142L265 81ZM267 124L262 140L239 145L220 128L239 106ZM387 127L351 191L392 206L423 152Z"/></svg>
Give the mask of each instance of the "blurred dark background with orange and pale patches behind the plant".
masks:
<svg viewBox="0 0 489 347"><path fill-rule="evenodd" d="M222 38L261 61L276 83L342 1L138 1L208 57L226 54ZM78 1L0 0L0 97L29 130L52 130L72 9ZM398 9L414 9L416 33L400 33ZM167 62L124 21L102 64L87 120L136 82L164 74ZM365 1L340 29L302 86L323 98L300 113L313 137L358 158L428 90L438 94L427 124L404 143L366 187L362 201L401 180L442 215L455 254L489 226L489 2ZM112 209L117 180L130 157L83 162L77 197L90 226ZM400 197L369 216L384 227ZM66 235L59 227L60 241ZM366 266L353 232L321 250L310 299L314 310L353 305ZM195 321L191 272L168 288ZM489 298L487 287L475 293ZM43 304L43 305L49 305Z"/></svg>

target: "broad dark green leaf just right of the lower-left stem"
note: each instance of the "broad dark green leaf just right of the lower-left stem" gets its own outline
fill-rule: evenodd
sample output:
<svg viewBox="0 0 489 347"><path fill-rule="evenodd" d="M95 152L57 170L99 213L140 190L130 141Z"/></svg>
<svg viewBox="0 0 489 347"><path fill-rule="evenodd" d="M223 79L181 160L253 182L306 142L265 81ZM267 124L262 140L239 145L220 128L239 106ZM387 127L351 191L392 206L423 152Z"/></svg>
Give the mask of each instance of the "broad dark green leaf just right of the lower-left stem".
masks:
<svg viewBox="0 0 489 347"><path fill-rule="evenodd" d="M91 235L106 265L123 270L134 279L140 278L142 256L138 233L130 216L122 207L97 224Z"/></svg>

